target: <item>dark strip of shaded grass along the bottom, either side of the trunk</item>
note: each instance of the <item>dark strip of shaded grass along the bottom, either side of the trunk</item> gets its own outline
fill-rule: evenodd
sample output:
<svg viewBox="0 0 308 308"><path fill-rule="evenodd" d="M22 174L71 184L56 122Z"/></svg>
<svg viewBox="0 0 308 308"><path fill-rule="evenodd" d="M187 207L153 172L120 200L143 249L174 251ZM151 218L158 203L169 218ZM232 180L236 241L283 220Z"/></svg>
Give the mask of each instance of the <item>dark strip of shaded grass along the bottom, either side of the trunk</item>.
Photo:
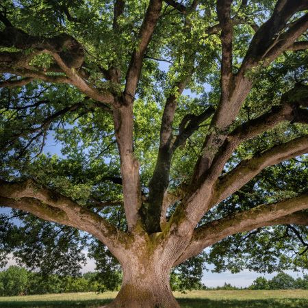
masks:
<svg viewBox="0 0 308 308"><path fill-rule="evenodd" d="M104 300L53 300L53 301L7 301L1 302L1 308L94 308L110 303L112 299ZM179 298L182 308L306 308L308 300L302 298L264 299L264 300L209 300L194 298Z"/></svg>

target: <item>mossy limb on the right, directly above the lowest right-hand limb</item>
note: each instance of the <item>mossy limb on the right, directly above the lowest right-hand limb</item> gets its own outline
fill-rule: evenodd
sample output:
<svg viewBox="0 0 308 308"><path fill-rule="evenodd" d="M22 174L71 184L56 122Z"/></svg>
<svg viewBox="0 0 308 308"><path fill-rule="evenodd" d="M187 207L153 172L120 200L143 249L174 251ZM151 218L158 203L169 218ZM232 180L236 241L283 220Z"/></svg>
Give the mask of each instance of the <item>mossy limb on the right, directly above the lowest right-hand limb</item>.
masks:
<svg viewBox="0 0 308 308"><path fill-rule="evenodd" d="M196 185L194 192L183 199L172 214L166 232L172 231L174 236L192 234L196 224L210 207L239 190L261 170L304 153L308 153L308 135L274 146L264 153L242 161L220 181L208 177L201 185ZM172 240L170 236L170 241Z"/></svg>

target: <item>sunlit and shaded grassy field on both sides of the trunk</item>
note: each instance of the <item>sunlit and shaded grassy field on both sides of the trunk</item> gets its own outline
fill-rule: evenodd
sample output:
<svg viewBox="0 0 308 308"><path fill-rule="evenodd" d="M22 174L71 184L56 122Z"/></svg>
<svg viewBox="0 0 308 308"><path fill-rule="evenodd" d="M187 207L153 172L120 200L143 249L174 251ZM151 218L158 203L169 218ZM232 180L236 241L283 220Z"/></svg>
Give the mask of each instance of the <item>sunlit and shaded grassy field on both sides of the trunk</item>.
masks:
<svg viewBox="0 0 308 308"><path fill-rule="evenodd" d="M0 297L0 307L18 308L94 308L110 303L116 292L67 293ZM183 308L290 308L308 307L308 290L274 291L192 291L175 292Z"/></svg>

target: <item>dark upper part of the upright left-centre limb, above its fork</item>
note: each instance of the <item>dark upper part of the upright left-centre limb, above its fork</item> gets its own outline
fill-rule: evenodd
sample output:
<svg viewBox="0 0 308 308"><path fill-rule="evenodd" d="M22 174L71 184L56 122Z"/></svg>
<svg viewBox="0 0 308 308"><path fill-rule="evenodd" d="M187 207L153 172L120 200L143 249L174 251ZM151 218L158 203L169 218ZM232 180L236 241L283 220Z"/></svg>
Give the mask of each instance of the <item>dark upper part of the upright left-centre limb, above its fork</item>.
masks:
<svg viewBox="0 0 308 308"><path fill-rule="evenodd" d="M131 62L126 75L125 101L132 103L135 96L138 80L140 78L144 54L151 40L153 31L157 25L160 11L162 10L162 0L151 0L146 10L144 21L140 28L138 44L131 56Z"/></svg>

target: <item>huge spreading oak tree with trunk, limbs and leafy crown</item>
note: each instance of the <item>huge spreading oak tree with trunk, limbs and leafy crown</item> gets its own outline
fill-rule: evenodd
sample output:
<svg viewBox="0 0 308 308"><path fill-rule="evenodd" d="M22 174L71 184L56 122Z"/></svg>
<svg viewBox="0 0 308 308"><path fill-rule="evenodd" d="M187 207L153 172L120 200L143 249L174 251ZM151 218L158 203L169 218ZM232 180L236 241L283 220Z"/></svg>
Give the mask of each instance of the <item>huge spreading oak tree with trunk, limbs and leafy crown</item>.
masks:
<svg viewBox="0 0 308 308"><path fill-rule="evenodd" d="M307 10L1 1L1 205L107 246L123 269L107 307L179 307L173 267L262 230L299 239L307 265Z"/></svg>

